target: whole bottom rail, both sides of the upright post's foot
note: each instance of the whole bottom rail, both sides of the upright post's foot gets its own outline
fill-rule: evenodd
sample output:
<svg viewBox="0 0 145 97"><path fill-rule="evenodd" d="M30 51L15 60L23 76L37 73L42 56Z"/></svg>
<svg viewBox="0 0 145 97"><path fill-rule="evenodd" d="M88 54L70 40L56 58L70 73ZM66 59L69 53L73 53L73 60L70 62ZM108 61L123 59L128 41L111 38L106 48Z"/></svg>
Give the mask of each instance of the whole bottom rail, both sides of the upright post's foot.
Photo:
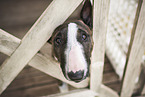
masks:
<svg viewBox="0 0 145 97"><path fill-rule="evenodd" d="M66 93L58 93L42 97L119 97L115 91L105 85L101 85L100 89L100 94L89 89L76 89Z"/></svg>

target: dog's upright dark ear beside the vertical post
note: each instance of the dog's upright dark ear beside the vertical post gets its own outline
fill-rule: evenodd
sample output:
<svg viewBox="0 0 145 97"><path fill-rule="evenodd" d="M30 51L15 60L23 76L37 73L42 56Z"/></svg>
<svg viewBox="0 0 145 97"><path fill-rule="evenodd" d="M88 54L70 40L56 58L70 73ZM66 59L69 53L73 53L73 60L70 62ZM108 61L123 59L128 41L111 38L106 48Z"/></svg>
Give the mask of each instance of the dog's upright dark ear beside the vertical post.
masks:
<svg viewBox="0 0 145 97"><path fill-rule="evenodd" d="M92 5L90 0L85 0L83 8L81 10L81 19L83 22L88 25L91 29L93 27L93 14L92 14Z"/></svg>

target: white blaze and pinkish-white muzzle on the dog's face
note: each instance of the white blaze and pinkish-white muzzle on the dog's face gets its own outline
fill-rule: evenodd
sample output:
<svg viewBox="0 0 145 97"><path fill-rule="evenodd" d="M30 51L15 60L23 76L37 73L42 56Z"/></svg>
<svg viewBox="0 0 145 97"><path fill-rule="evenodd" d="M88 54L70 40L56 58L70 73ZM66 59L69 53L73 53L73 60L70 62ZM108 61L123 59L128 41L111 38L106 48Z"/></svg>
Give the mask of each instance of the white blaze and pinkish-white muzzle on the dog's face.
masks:
<svg viewBox="0 0 145 97"><path fill-rule="evenodd" d="M78 27L75 23L68 24L67 48L66 54L66 71L77 72L84 70L84 75L87 73L87 62L84 56L83 46L77 41Z"/></svg>

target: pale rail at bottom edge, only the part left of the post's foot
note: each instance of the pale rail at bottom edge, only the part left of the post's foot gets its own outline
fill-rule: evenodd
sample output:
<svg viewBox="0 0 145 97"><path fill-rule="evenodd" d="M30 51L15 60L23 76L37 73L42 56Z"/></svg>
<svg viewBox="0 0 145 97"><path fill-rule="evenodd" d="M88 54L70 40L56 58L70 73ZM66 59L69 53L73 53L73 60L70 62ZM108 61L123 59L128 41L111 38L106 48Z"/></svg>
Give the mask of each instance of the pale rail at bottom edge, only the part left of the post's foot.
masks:
<svg viewBox="0 0 145 97"><path fill-rule="evenodd" d="M42 97L96 97L96 96L97 96L97 93L89 89L79 89L79 90L73 90L67 93L60 93L60 94L42 96Z"/></svg>

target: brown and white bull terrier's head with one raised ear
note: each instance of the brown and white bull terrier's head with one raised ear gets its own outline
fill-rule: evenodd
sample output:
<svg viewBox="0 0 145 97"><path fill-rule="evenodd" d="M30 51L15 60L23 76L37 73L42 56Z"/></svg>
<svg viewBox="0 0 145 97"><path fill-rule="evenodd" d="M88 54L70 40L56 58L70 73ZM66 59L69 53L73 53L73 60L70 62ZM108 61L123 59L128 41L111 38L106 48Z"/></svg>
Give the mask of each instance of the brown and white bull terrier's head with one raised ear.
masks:
<svg viewBox="0 0 145 97"><path fill-rule="evenodd" d="M92 6L86 0L81 11L82 20L57 27L52 35L53 57L60 62L68 80L80 82L89 74L92 42Z"/></svg>

